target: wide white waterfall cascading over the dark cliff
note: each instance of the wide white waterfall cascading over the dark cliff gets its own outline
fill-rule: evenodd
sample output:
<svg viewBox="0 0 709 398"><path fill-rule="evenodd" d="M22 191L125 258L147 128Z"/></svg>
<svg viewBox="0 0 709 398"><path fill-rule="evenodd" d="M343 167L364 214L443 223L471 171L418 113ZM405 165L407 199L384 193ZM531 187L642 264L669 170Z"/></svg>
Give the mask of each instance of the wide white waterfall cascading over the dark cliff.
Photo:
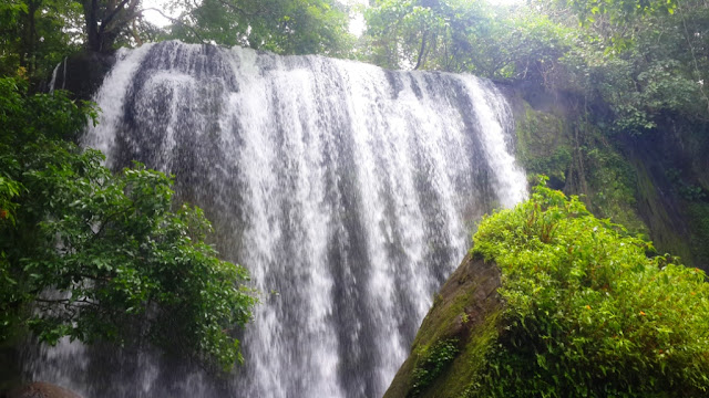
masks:
<svg viewBox="0 0 709 398"><path fill-rule="evenodd" d="M381 396L476 220L526 196L510 109L474 76L178 42L117 59L85 145L175 174L261 304L218 387L148 354L92 381L69 344L30 365L86 397Z"/></svg>

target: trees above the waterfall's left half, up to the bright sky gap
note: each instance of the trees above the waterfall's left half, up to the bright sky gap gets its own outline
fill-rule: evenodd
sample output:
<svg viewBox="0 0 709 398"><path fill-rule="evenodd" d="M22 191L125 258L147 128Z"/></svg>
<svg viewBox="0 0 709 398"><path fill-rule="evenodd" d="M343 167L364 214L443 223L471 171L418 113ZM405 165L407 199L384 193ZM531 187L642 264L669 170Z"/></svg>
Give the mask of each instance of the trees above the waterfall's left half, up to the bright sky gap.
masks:
<svg viewBox="0 0 709 398"><path fill-rule="evenodd" d="M11 0L0 4L0 73L21 67L44 78L62 57L82 49L111 52L144 41L243 45L280 54L347 56L348 7L337 0L175 0L178 10L147 8L141 0ZM168 17L165 29L150 23L146 10Z"/></svg>

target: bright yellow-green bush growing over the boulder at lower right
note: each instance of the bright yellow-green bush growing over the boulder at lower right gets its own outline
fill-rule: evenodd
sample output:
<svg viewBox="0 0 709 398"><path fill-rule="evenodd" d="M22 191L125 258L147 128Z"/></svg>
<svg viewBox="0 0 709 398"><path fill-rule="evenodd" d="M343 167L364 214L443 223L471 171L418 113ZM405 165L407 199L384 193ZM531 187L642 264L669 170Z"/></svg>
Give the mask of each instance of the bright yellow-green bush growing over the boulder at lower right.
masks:
<svg viewBox="0 0 709 398"><path fill-rule="evenodd" d="M474 254L503 273L503 332L473 397L703 397L709 284L544 185L487 217Z"/></svg>

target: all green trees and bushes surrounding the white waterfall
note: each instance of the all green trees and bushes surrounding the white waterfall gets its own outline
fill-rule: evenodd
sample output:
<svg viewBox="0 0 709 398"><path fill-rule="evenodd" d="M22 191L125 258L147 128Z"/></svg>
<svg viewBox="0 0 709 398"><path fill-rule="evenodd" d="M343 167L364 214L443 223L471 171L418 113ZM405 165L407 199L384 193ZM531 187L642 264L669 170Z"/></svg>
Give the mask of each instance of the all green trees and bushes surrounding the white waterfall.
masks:
<svg viewBox="0 0 709 398"><path fill-rule="evenodd" d="M156 13L171 22L155 24L148 15ZM360 19L363 30L353 32L350 24ZM542 185L532 201L481 224L474 254L503 271L508 310L500 316L507 324L499 327L508 333L494 335L501 348L482 350L486 362L460 392L706 394L707 0L172 0L165 8L145 0L3 1L3 350L32 333L49 344L64 336L121 346L148 342L216 373L243 360L240 333L259 296L248 287L248 264L220 260L209 244L209 221L174 196L172 176L138 163L112 171L103 166L104 155L80 146L84 126L101 112L84 101L92 93L49 93L59 64L66 73L72 60L110 57L120 48L167 40L493 81L524 115L516 121L517 161L528 175L548 176L549 188L575 197ZM594 239L603 242L592 244ZM596 258L598 247L618 245L627 251ZM530 254L535 250L536 256ZM559 250L568 250L568 258L556 258ZM643 289L647 295L637 302L627 295ZM608 291L626 295L604 301ZM645 310L627 325L616 320L653 301L659 315ZM682 316L660 318L672 308ZM651 325L641 323L650 317ZM587 332L592 324L615 329ZM686 328L672 328L678 325ZM635 334L617 338L617 331L628 329ZM420 366L412 376L418 381L403 394L423 394L434 379L427 373L435 369L438 377L463 344L436 342L427 349L442 365L421 359L429 368ZM592 348L598 342L604 346ZM681 355L666 346L681 346ZM608 354L614 352L627 355ZM668 356L677 359L664 362ZM603 377L584 374L599 364ZM612 383L594 389L599 379ZM0 390L10 385L3 380Z"/></svg>

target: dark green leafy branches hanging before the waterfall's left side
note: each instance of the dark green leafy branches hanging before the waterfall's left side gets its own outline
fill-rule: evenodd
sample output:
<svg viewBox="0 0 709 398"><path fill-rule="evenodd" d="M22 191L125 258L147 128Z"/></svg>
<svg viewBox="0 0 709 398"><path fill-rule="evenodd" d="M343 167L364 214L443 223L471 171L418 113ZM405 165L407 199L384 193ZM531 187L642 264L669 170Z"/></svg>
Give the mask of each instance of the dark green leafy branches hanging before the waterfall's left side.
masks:
<svg viewBox="0 0 709 398"><path fill-rule="evenodd" d="M205 243L198 208L136 164L112 175L73 138L95 109L0 80L0 341L152 343L229 368L250 320L246 270Z"/></svg>

